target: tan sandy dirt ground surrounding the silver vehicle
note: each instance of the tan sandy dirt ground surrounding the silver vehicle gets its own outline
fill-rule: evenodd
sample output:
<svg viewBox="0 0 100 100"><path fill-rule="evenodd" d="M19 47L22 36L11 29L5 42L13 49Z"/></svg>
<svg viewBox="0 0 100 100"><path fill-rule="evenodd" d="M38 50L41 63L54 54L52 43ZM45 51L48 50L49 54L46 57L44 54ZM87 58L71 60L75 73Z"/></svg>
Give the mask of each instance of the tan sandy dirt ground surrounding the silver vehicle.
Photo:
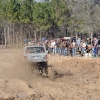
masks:
<svg viewBox="0 0 100 100"><path fill-rule="evenodd" d="M0 50L0 99L100 100L100 59L49 55L56 79L37 76L21 50ZM8 99L12 98L12 99Z"/></svg>

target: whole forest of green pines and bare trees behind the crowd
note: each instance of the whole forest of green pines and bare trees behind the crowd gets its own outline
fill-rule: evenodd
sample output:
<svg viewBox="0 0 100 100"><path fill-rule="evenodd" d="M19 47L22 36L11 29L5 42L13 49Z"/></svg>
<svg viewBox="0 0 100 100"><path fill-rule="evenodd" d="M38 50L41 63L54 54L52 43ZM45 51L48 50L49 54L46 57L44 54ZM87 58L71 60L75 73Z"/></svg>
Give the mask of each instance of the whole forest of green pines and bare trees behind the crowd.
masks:
<svg viewBox="0 0 100 100"><path fill-rule="evenodd" d="M78 35L100 37L99 0L0 0L0 44L5 47Z"/></svg>

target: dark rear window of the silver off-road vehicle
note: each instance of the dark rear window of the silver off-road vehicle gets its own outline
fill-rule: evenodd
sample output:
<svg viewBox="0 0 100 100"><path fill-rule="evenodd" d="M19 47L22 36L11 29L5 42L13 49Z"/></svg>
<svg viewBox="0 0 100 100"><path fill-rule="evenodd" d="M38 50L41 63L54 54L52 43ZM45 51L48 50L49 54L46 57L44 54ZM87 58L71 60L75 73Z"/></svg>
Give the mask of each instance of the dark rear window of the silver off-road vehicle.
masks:
<svg viewBox="0 0 100 100"><path fill-rule="evenodd" d="M44 47L27 47L26 53L44 53Z"/></svg>

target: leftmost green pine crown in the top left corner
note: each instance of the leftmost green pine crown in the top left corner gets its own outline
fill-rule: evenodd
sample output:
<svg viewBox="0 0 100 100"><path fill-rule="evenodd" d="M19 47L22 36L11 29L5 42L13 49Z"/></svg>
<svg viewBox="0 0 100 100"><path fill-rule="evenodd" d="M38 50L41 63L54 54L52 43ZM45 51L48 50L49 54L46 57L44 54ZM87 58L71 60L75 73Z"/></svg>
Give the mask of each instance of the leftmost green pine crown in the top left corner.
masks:
<svg viewBox="0 0 100 100"><path fill-rule="evenodd" d="M18 22L20 14L20 3L17 0L3 2L2 14L5 20L9 20L14 23Z"/></svg>

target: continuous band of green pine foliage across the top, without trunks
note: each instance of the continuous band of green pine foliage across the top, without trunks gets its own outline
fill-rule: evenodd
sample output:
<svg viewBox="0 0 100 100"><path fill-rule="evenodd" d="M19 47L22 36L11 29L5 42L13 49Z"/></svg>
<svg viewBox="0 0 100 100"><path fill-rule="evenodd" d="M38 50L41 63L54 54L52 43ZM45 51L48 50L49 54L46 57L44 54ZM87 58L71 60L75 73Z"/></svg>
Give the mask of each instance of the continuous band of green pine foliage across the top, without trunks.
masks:
<svg viewBox="0 0 100 100"><path fill-rule="evenodd" d="M2 18L12 23L32 24L36 30L60 26L69 18L70 11L64 0L35 2L34 0L0 0Z"/></svg>

